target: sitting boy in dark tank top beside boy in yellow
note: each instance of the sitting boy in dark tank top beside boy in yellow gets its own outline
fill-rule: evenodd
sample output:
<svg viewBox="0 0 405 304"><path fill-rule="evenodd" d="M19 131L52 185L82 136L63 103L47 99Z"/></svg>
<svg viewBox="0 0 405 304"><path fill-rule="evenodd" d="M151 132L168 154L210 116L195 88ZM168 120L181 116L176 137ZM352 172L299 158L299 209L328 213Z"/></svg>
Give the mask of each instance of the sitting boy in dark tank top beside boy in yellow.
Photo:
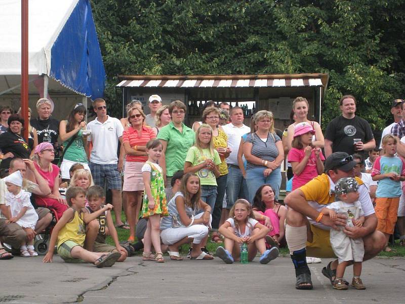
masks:
<svg viewBox="0 0 405 304"><path fill-rule="evenodd" d="M104 205L104 189L100 186L91 186L87 191L87 200L89 206L85 208L85 213L94 214L102 209ZM123 262L127 258L127 250L119 245L118 234L115 230L114 222L110 211L102 212L98 217L98 235L93 245L94 252L119 252L120 257L118 262ZM114 241L115 246L106 244L106 236L110 235Z"/></svg>

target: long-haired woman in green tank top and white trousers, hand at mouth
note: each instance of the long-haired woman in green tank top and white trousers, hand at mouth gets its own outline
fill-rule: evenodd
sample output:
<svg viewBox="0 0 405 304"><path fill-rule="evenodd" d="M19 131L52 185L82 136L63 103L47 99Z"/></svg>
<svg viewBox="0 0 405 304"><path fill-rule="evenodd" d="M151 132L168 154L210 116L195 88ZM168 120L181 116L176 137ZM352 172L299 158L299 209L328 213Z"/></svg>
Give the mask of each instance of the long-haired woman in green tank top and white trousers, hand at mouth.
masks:
<svg viewBox="0 0 405 304"><path fill-rule="evenodd" d="M82 164L85 169L90 171L87 164L87 136L83 134L86 130L87 109L77 103L70 112L67 120L59 124L59 137L63 141L63 161L60 165L61 176L63 180L69 180L69 169L76 163Z"/></svg>

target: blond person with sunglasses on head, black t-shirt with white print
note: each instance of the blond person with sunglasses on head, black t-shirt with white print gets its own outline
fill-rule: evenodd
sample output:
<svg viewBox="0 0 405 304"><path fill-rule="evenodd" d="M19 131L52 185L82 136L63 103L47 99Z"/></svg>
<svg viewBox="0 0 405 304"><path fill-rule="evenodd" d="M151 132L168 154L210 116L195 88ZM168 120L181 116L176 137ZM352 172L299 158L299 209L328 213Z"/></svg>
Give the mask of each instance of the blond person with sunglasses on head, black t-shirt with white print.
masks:
<svg viewBox="0 0 405 304"><path fill-rule="evenodd" d="M38 117L31 119L31 126L36 129L38 134L38 143L50 142L54 146L55 165L59 162L60 146L58 143L59 121L51 117L51 101L47 98L40 98L36 102Z"/></svg>

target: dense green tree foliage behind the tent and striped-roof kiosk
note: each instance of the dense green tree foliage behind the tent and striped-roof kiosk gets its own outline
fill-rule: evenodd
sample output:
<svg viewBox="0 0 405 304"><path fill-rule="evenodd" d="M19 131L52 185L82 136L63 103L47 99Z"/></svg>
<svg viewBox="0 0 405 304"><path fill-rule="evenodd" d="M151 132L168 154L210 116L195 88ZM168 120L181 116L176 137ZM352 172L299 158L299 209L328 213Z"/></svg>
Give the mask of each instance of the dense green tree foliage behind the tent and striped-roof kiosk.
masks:
<svg viewBox="0 0 405 304"><path fill-rule="evenodd" d="M376 129L403 96L402 0L92 0L115 99L117 74L329 73L322 121L352 94Z"/></svg>

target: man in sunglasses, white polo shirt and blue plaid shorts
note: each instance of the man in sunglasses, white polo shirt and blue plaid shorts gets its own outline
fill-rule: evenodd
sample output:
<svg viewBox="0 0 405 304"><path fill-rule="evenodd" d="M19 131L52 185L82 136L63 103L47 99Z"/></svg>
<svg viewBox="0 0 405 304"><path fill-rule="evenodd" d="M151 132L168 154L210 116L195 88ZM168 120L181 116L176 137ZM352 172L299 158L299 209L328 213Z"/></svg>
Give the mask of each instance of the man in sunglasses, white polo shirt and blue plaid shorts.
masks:
<svg viewBox="0 0 405 304"><path fill-rule="evenodd" d="M118 172L118 141L122 142L124 128L118 119L107 115L105 100L97 98L93 101L93 108L97 118L87 125L92 131L88 137L93 148L90 154L90 170L94 183L111 189L112 205L114 206L115 224L124 227L121 221L123 201L121 199L121 175Z"/></svg>

